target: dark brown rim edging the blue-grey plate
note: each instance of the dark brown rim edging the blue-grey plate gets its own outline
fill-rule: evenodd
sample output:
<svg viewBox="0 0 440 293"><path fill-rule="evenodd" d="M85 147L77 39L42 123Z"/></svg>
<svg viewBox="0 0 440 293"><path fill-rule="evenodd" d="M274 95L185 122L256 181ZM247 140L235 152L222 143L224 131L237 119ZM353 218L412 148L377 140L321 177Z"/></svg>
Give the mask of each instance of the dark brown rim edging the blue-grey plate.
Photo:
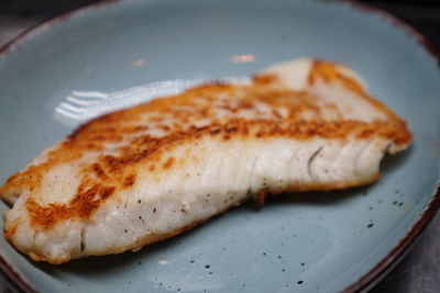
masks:
<svg viewBox="0 0 440 293"><path fill-rule="evenodd" d="M44 20L13 37L11 41L7 42L0 47L0 61L8 55L13 53L18 47L25 44L25 42L40 33L52 29L53 26L65 22L70 19L75 19L82 14L95 12L100 9L106 9L110 5L116 5L122 2L132 2L133 0L103 0L100 2L95 2L91 4L86 4L76 9L72 9L67 12L61 13L47 20ZM433 57L437 63L437 68L440 69L440 50L436 45L418 30L413 27L410 24L398 19L391 12L387 12L378 7L367 4L364 2L355 2L352 0L312 0L321 3L329 4L341 4L348 5L354 10L361 11L363 13L376 14L382 18L383 21L388 22L388 24L397 27L398 30L405 32L408 36L415 40L429 55ZM382 258L372 269L364 273L354 283L346 286L342 292L364 292L372 289L377 282L380 282L386 273L388 273L392 266L396 264L406 252L413 247L413 244L419 239L428 224L431 222L433 216L440 209L440 182L437 182L436 190L431 195L429 203L425 206L422 213L418 216L417 221L413 224L410 229L405 234L405 236L395 245L387 255ZM33 285L25 281L25 278L13 269L13 266L8 263L8 261L0 253L0 270L3 275L9 279L13 285L18 286L24 292L37 292Z"/></svg>

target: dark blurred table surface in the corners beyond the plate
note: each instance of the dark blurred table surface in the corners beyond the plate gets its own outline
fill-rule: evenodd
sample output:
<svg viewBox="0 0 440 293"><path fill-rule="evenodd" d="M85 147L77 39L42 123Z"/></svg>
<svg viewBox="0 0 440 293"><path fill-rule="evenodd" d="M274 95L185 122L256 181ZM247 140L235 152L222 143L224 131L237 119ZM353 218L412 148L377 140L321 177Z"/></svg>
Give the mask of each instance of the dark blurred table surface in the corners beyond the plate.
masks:
<svg viewBox="0 0 440 293"><path fill-rule="evenodd" d="M0 46L40 23L96 0L1 0ZM382 8L413 25L440 48L440 1L362 1ZM1 278L1 277L0 277ZM8 292L0 281L0 291ZM371 292L440 292L440 214L399 264Z"/></svg>

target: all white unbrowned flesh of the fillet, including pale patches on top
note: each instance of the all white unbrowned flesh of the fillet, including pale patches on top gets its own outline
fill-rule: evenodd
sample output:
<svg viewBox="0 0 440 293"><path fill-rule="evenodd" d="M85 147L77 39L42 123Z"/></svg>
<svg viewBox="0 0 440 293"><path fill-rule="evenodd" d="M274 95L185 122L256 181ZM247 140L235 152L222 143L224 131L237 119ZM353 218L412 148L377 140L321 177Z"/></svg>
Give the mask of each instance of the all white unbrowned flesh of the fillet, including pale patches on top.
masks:
<svg viewBox="0 0 440 293"><path fill-rule="evenodd" d="M308 84L310 59L279 64L258 75L276 75L284 87L307 91L318 97L321 119L385 121L388 117L374 105L356 97L341 84ZM360 81L341 67L341 75ZM326 108L328 104L336 105ZM250 110L251 111L251 110ZM272 115L262 104L258 115ZM283 115L283 111L279 111ZM255 113L243 115L254 116ZM305 113L304 120L314 120ZM202 126L209 122L198 121ZM161 136L161 129L148 129ZM38 203L65 204L78 189L78 169L98 156L112 154L108 145L102 151L90 153L77 161L56 166L42 178ZM380 178L380 162L386 151L406 147L386 137L293 139L263 137L231 139L204 136L173 147L166 155L187 158L167 170L138 169L135 183L109 198L90 218L66 219L48 229L35 228L26 210L29 190L11 191L3 198L15 201L6 213L8 227L14 227L11 243L35 260L62 263L70 259L119 253L170 237L202 223L228 209L264 193L343 189L373 182ZM36 159L44 161L45 155ZM189 158L189 159L188 159ZM194 159L191 159L194 158ZM19 196L15 196L19 195ZM264 195L263 195L264 196ZM15 200L16 199L16 200Z"/></svg>

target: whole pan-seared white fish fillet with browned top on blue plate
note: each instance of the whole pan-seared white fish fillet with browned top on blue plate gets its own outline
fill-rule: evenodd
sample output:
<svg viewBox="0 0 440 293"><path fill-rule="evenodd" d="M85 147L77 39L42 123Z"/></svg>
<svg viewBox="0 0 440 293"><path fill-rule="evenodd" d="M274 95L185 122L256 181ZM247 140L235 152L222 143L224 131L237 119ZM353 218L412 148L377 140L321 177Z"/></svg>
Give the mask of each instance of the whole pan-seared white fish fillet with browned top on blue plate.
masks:
<svg viewBox="0 0 440 293"><path fill-rule="evenodd" d="M348 67L278 64L80 126L0 189L4 235L51 263L136 250L251 198L373 182L410 140Z"/></svg>

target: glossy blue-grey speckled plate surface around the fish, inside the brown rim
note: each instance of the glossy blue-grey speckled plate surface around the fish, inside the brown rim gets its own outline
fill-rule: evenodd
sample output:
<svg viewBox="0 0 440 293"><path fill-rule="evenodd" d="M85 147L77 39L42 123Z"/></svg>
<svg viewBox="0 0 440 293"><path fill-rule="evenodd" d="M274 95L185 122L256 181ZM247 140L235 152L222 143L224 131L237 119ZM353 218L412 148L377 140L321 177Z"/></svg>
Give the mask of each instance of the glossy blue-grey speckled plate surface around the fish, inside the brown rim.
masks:
<svg viewBox="0 0 440 293"><path fill-rule="evenodd" d="M370 187L246 204L138 252L62 266L30 261L1 237L0 267L42 292L369 289L440 202L440 72L410 32L383 14L317 0L117 1L36 27L0 56L0 180L73 131L55 114L73 94L246 76L302 56L352 66L408 121L415 143L387 158Z"/></svg>

